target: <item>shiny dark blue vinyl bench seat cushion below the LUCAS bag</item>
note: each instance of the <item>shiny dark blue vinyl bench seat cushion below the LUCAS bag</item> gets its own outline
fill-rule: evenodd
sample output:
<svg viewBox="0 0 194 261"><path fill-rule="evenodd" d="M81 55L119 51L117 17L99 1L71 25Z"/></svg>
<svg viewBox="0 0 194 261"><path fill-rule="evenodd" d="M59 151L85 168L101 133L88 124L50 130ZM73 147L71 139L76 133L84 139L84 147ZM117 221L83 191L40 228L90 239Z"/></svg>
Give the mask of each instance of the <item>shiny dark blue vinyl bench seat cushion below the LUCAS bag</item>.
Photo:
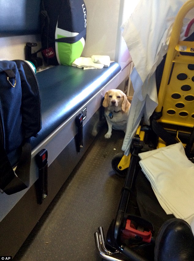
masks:
<svg viewBox="0 0 194 261"><path fill-rule="evenodd" d="M120 65L113 62L109 67L102 69L83 70L73 66L57 65L36 73L41 97L42 129L36 138L31 138L32 149L73 115L120 70Z"/></svg>

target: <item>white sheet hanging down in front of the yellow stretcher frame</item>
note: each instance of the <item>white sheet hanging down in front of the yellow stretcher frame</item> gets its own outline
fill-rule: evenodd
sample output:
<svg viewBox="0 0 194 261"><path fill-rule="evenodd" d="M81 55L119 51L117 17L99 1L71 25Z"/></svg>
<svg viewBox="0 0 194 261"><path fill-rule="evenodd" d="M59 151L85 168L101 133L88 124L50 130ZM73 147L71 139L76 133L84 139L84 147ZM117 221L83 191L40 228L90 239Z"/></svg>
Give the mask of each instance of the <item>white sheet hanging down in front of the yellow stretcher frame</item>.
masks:
<svg viewBox="0 0 194 261"><path fill-rule="evenodd" d="M132 138L144 115L146 124L158 105L155 70L167 53L173 21L187 0L140 0L129 19L122 25L122 36L134 63L130 75L134 95L129 112L127 130L122 145L129 154ZM180 39L194 17L190 10L183 21ZM190 30L193 32L194 25Z"/></svg>

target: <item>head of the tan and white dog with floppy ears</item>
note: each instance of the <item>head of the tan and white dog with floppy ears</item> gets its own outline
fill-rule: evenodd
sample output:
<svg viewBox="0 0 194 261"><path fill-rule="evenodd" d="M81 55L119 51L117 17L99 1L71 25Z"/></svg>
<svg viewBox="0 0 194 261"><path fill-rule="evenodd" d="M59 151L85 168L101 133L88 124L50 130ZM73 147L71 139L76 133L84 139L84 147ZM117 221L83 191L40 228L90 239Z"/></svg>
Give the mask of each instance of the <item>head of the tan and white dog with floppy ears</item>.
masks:
<svg viewBox="0 0 194 261"><path fill-rule="evenodd" d="M124 92L117 89L109 90L104 95L103 107L109 107L110 111L127 111L130 103Z"/></svg>

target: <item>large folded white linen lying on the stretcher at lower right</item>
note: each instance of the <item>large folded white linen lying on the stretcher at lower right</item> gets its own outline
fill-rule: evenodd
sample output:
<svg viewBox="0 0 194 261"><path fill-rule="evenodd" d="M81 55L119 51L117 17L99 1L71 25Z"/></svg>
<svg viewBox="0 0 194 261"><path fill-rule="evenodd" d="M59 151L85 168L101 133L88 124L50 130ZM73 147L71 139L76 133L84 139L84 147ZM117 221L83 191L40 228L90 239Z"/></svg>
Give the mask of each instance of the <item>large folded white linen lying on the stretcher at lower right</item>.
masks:
<svg viewBox="0 0 194 261"><path fill-rule="evenodd" d="M194 164L181 142L139 154L140 166L167 214L194 218Z"/></svg>

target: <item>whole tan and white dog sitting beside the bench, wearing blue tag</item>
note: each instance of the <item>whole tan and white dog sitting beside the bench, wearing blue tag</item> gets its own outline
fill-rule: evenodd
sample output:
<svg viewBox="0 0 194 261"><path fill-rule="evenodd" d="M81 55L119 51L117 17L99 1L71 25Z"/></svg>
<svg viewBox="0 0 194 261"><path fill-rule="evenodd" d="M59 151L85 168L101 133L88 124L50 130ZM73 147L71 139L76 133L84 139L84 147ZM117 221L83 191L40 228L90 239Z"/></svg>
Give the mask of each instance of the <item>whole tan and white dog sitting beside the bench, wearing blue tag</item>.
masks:
<svg viewBox="0 0 194 261"><path fill-rule="evenodd" d="M108 131L105 138L110 138L112 129L126 131L126 125L131 103L124 92L117 89L111 89L104 95L103 107L104 115L108 124Z"/></svg>

